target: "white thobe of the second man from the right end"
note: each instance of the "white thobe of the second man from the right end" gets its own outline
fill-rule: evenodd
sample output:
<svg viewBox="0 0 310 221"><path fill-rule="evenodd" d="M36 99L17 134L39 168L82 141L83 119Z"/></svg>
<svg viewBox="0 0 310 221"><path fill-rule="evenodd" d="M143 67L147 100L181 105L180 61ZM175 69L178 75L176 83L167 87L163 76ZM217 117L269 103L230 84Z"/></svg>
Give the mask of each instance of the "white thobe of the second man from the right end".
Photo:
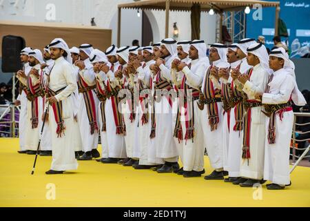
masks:
<svg viewBox="0 0 310 221"><path fill-rule="evenodd" d="M257 93L263 93L267 86L269 73L257 64L253 68L250 79L245 82L243 91L249 100L254 100ZM265 153L265 124L266 116L262 113L262 106L251 108L251 133L249 134L250 158L241 159L240 176L254 180L261 180L264 169Z"/></svg>

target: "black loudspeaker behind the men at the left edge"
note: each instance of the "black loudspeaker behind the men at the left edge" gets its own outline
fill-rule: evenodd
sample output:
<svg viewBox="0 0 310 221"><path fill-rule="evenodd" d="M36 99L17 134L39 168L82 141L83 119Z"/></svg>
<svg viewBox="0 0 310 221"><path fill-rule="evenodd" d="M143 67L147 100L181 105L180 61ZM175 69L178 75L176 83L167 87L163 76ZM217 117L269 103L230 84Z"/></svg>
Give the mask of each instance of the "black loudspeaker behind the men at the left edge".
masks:
<svg viewBox="0 0 310 221"><path fill-rule="evenodd" d="M21 70L20 53L25 48L25 39L19 36L6 35L2 38L2 72L12 73Z"/></svg>

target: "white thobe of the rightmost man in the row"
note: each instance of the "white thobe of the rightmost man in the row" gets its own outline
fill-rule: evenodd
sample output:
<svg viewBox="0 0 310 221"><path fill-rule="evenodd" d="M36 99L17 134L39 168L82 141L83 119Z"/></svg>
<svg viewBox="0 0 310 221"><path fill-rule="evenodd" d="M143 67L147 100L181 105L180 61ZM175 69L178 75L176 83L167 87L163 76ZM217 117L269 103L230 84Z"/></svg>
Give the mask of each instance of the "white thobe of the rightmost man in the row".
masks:
<svg viewBox="0 0 310 221"><path fill-rule="evenodd" d="M283 68L273 73L269 82L269 93L262 95L262 104L285 104L289 101L294 88L294 79ZM280 119L279 113L275 115L276 142L269 144L268 126L269 117L266 117L265 163L264 180L274 184L287 185L289 179L289 147L291 131L293 128L293 111L285 111Z"/></svg>

